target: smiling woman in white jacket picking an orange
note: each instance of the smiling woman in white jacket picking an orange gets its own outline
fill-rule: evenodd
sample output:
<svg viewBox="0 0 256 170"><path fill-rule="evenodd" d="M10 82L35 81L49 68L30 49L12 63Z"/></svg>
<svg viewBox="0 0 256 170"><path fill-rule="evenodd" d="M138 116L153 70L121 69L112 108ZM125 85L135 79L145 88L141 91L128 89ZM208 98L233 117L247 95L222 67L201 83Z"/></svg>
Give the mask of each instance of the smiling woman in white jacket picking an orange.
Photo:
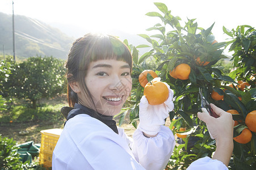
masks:
<svg viewBox="0 0 256 170"><path fill-rule="evenodd" d="M146 97L142 97L140 124L131 139L112 120L121 111L132 88L132 56L127 46L113 36L87 34L73 43L66 69L68 102L72 108L54 148L52 168L163 169L175 145L173 133L163 126L174 107L169 86L166 84L169 98L163 104L149 105ZM220 118L211 120L207 114L202 116L205 113L199 113L199 118L209 123L211 134L216 142L220 139L217 143L220 145L224 140L212 122L229 119L231 124L233 120L219 108L213 106L213 109L219 112ZM229 124L223 124L226 125ZM223 160L221 150L216 152L216 159L220 161L205 158L197 160L194 167L198 166L196 163L207 162L226 168L222 162L228 155Z"/></svg>

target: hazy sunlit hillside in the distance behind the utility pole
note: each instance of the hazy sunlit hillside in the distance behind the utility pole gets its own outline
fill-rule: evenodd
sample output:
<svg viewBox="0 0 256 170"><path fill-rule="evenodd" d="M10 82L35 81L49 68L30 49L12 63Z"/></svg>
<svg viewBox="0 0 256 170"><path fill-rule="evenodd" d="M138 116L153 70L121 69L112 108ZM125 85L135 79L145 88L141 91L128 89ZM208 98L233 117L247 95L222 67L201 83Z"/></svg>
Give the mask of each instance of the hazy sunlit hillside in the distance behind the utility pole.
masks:
<svg viewBox="0 0 256 170"><path fill-rule="evenodd" d="M53 56L66 59L74 41L59 29L22 15L14 16L15 55L18 57ZM0 54L12 55L12 15L0 12Z"/></svg>

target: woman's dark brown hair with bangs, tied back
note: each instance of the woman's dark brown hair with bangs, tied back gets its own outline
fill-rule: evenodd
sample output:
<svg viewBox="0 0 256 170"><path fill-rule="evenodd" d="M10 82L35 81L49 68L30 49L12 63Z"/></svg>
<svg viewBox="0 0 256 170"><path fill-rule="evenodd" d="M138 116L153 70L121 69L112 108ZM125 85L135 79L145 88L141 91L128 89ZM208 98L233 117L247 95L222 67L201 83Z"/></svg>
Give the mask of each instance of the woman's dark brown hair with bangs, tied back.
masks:
<svg viewBox="0 0 256 170"><path fill-rule="evenodd" d="M102 59L116 59L125 61L132 70L132 55L128 47L114 36L101 34L86 34L74 41L69 51L66 66L66 78L68 79L67 98L70 107L78 103L78 96L69 86L70 82L78 82L80 87L93 104L96 111L93 97L85 83L87 69L91 62Z"/></svg>

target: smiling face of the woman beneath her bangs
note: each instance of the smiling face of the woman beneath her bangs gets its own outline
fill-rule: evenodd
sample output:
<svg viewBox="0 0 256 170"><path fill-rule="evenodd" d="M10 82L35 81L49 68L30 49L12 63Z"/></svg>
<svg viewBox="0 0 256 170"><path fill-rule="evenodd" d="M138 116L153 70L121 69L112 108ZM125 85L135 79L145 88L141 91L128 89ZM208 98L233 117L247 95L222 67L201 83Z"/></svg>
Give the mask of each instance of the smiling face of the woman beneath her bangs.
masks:
<svg viewBox="0 0 256 170"><path fill-rule="evenodd" d="M100 114L114 116L121 111L132 89L130 72L124 61L104 59L90 63L85 83ZM78 99L78 103L90 107L88 96L78 94Z"/></svg>

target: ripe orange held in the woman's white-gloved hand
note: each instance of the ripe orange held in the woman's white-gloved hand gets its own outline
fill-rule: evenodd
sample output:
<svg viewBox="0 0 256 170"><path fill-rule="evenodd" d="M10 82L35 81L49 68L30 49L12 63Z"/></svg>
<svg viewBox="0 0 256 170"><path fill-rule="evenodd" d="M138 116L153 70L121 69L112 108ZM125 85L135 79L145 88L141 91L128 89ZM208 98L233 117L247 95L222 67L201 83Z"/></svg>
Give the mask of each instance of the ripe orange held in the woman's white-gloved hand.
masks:
<svg viewBox="0 0 256 170"><path fill-rule="evenodd" d="M158 80L153 80L146 84L144 95L148 99L150 105L158 105L164 103L169 97L168 87Z"/></svg>

